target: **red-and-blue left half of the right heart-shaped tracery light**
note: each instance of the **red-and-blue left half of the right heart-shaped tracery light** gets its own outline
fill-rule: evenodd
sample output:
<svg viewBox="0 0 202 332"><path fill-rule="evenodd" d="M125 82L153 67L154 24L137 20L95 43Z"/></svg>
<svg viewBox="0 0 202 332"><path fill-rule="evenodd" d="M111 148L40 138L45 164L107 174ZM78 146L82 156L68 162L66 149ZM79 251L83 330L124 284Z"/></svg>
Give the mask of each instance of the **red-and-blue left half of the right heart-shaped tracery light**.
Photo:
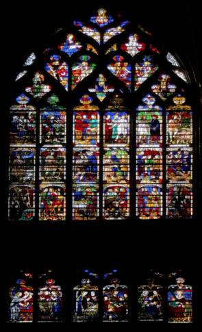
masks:
<svg viewBox="0 0 202 332"><path fill-rule="evenodd" d="M114 63L108 64L109 71L118 79L121 79L125 86L131 90L131 65L128 62L123 62L124 58L121 55L115 55Z"/></svg>

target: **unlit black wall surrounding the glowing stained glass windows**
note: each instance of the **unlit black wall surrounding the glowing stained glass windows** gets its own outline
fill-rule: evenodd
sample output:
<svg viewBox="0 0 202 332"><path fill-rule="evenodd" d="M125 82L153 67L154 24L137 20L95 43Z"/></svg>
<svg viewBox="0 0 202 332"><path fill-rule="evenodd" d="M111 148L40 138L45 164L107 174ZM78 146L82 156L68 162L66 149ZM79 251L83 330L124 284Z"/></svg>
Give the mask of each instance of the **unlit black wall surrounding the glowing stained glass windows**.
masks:
<svg viewBox="0 0 202 332"><path fill-rule="evenodd" d="M82 18L82 15L93 16L98 8L106 8L113 15L113 10L120 12L129 19L137 21L148 28L173 49L189 68L192 68L195 81L193 85L200 94L199 82L201 73L200 46L201 21L197 1L36 1L22 5L5 4L2 16L5 21L1 27L1 114L5 124L13 97L14 78L21 71L27 55L49 40L55 28L65 27L70 21ZM110 12L111 11L111 12ZM199 96L200 97L200 96ZM201 109L197 112L200 112ZM199 116L200 120L200 116ZM3 123L1 128L6 128ZM6 137L7 131L1 129ZM2 149L7 155L4 139ZM3 158L2 158L3 159ZM201 159L199 159L200 161ZM1 160L3 162L3 160ZM5 162L5 174L7 163ZM195 176L200 176L200 169ZM5 177L3 176L3 181ZM200 181L200 180L199 180ZM6 181L3 184L6 188ZM199 190L201 186L199 183ZM201 191L197 192L197 201L201 201ZM194 331L200 318L200 283L201 283L201 232L200 208L196 209L193 220L161 220L149 222L112 222L89 223L85 225L66 222L66 225L13 225L6 222L6 197L3 196L4 214L1 223L1 266L5 301L8 287L21 268L38 272L44 268L52 268L66 285L66 298L69 297L67 308L71 303L71 286L79 283L79 274L85 268L98 272L108 272L117 268L123 275L123 281L129 284L131 292L136 293L136 286L150 268L162 272L181 268L187 277L187 283L194 288L194 324L181 326L164 326L172 329L189 329ZM71 213L71 212L70 212ZM56 278L57 279L57 278ZM136 295L134 295L136 296ZM132 301L131 301L132 302ZM71 307L71 306L70 306ZM136 304L133 303L133 307ZM3 309L6 315L6 309ZM69 315L70 310L67 312ZM4 316L5 316L4 315ZM71 321L71 317L69 316ZM69 324L69 323L68 323ZM19 326L21 325L21 326ZM25 326L26 325L26 326ZM180 324L177 324L180 325ZM83 329L84 325L72 325L71 329ZM146 324L137 324L136 317L131 316L129 324L110 324L102 328L113 331L131 327L141 331L148 329ZM31 324L9 324L14 329L28 331L36 328ZM38 324L37 329L46 331L49 324ZM63 331L66 324L58 324L56 329ZM97 327L89 327L90 331ZM160 331L160 325L155 324Z"/></svg>

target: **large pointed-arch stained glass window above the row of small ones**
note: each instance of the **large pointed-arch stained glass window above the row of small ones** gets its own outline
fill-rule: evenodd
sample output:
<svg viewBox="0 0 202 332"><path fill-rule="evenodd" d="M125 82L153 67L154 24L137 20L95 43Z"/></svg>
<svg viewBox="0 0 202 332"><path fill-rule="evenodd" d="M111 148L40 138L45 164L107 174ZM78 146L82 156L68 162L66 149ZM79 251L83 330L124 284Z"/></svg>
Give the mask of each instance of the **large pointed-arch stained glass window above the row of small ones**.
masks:
<svg viewBox="0 0 202 332"><path fill-rule="evenodd" d="M73 21L16 87L9 220L192 218L191 79L138 22Z"/></svg>

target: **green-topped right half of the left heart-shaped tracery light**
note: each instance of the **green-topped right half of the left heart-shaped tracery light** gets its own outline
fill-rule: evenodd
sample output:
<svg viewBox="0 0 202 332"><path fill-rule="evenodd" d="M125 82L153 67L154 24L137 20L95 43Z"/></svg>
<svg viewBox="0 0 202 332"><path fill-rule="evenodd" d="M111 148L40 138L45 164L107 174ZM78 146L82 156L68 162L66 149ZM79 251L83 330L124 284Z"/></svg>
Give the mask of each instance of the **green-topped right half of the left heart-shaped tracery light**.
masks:
<svg viewBox="0 0 202 332"><path fill-rule="evenodd" d="M82 79L88 77L96 67L96 64L90 62L90 55L81 55L79 59L81 61L76 62L72 66L72 90L75 89Z"/></svg>

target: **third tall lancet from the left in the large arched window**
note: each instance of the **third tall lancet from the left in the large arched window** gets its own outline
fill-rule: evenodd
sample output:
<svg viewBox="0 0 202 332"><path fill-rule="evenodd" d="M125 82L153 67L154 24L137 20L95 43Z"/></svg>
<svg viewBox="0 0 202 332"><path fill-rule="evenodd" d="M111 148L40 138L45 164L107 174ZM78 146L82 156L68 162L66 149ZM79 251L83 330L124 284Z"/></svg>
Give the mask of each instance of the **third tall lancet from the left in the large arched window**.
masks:
<svg viewBox="0 0 202 332"><path fill-rule="evenodd" d="M80 103L73 111L73 219L94 220L99 216L99 112L88 94Z"/></svg>

